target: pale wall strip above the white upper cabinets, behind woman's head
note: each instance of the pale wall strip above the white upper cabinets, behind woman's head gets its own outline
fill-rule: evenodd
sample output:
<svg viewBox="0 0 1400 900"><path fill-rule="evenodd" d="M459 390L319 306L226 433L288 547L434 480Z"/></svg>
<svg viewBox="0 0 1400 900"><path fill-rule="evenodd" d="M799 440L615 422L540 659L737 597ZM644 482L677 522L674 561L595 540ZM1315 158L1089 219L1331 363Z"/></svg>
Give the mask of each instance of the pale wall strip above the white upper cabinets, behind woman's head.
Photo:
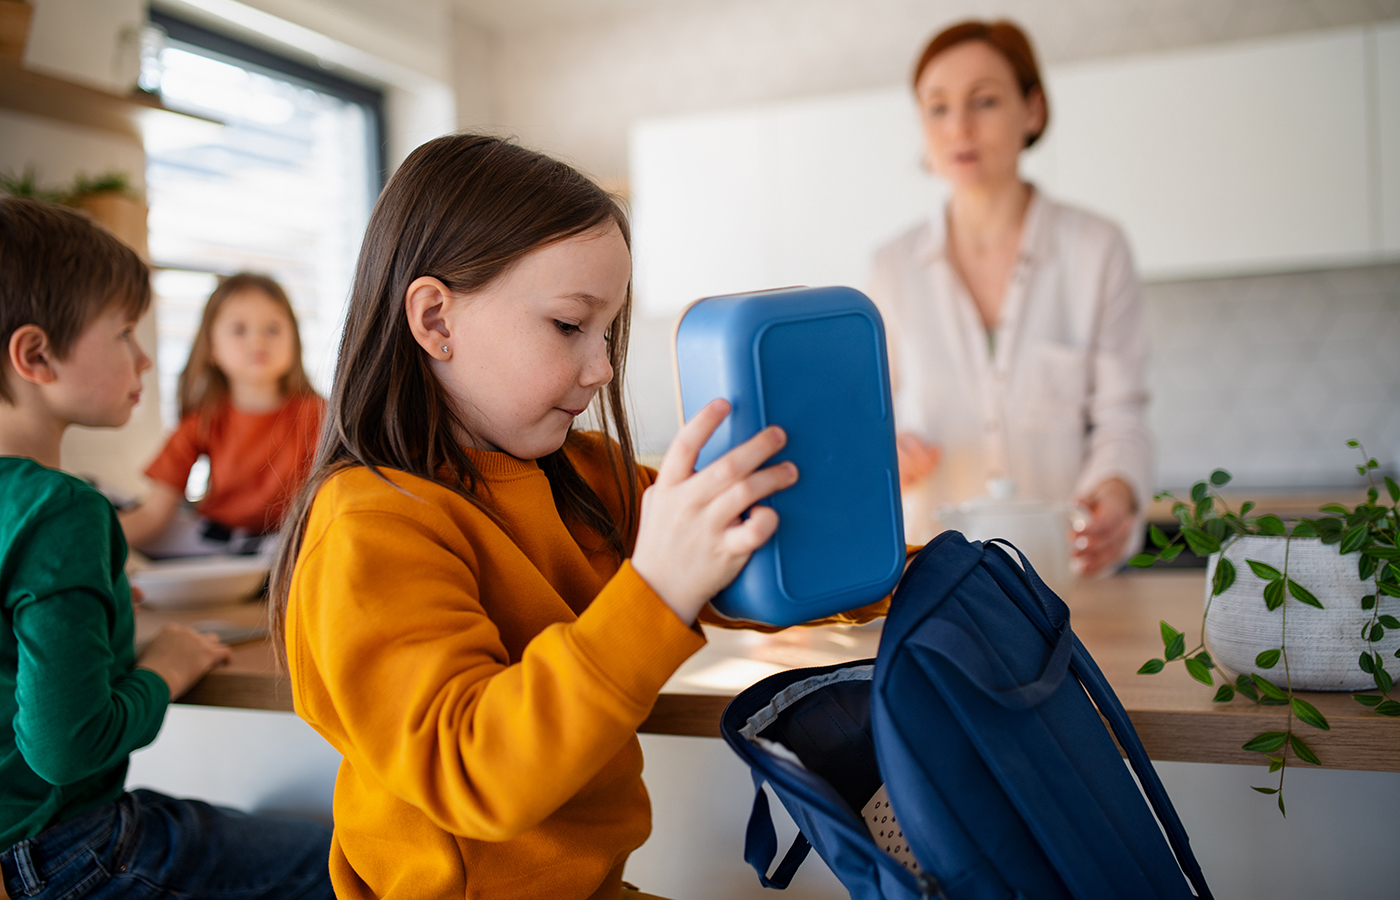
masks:
<svg viewBox="0 0 1400 900"><path fill-rule="evenodd" d="M638 119L904 84L956 20L1023 24L1042 60L1123 56L1385 21L1394 0L749 0L671 3L498 32L494 125L608 179ZM571 20L577 17L570 17Z"/></svg>

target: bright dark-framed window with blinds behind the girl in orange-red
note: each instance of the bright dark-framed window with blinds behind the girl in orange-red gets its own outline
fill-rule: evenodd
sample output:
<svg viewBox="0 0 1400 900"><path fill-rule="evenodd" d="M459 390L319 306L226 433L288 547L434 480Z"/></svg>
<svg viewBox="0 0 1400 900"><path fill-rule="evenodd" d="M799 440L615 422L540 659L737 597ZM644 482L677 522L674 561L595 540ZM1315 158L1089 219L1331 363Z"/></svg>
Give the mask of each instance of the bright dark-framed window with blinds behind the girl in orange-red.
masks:
<svg viewBox="0 0 1400 900"><path fill-rule="evenodd" d="M217 277L241 270L287 288L326 392L382 186L382 94L154 10L151 22L167 39L143 81L210 120L165 116L146 132L161 419L175 426L175 384Z"/></svg>

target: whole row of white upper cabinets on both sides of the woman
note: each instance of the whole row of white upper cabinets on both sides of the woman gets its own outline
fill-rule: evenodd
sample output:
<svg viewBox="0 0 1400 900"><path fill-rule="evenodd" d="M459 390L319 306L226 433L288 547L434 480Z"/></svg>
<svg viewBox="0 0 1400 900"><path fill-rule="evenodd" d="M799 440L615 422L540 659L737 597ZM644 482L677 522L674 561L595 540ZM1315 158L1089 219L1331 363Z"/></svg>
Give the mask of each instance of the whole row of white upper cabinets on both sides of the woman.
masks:
<svg viewBox="0 0 1400 900"><path fill-rule="evenodd" d="M1400 252L1400 25L1047 71L1025 155L1050 195L1119 221L1142 274L1352 265ZM903 87L640 123L637 294L864 283L939 209Z"/></svg>

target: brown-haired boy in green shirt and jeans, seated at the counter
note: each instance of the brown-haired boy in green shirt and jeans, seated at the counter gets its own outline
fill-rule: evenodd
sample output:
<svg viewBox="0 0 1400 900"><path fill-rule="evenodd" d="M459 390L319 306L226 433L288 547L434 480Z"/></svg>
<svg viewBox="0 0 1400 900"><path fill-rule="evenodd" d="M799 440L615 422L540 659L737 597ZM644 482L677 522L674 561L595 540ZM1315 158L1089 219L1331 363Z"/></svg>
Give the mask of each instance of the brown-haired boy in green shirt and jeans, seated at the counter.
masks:
<svg viewBox="0 0 1400 900"><path fill-rule="evenodd" d="M228 661L165 626L140 656L112 505L59 470L150 358L146 265L80 214L0 197L0 899L332 897L330 831L125 791L169 701Z"/></svg>

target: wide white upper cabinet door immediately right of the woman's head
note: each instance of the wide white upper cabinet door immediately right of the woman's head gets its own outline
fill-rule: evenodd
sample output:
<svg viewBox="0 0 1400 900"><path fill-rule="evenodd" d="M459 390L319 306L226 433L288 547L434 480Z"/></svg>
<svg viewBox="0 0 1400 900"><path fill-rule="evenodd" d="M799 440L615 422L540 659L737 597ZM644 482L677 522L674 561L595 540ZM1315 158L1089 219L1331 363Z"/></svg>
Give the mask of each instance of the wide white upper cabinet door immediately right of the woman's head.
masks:
<svg viewBox="0 0 1400 900"><path fill-rule="evenodd" d="M1047 76L1032 176L1127 230L1144 274L1373 253L1361 29L1106 60Z"/></svg>

